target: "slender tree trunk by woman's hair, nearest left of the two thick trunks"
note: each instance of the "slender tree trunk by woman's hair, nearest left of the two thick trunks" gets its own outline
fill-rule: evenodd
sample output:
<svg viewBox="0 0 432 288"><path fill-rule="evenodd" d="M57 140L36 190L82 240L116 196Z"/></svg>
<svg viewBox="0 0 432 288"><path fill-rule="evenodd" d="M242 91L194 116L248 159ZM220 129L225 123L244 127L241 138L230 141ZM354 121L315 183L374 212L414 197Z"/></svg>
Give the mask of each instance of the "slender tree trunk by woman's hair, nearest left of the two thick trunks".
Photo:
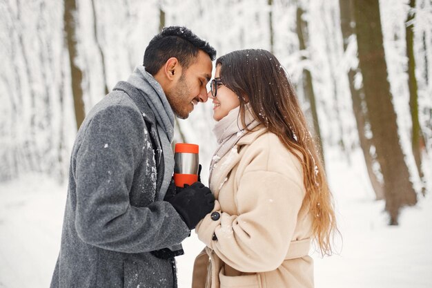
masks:
<svg viewBox="0 0 432 288"><path fill-rule="evenodd" d="M308 37L307 32L307 23L302 19L304 11L300 6L297 7L297 36L299 38L299 48L300 50L306 50L306 41ZM302 56L302 60L306 59L306 57ZM315 133L315 143L319 147L319 152L322 157L322 162L324 163L324 150L322 147L321 141L321 132L320 132L320 122L318 120L317 113L317 105L315 99L315 93L313 91L313 81L311 71L304 69L303 70L303 89L304 95L306 99L308 99L309 104L311 105L311 114L313 121L313 131Z"/></svg>

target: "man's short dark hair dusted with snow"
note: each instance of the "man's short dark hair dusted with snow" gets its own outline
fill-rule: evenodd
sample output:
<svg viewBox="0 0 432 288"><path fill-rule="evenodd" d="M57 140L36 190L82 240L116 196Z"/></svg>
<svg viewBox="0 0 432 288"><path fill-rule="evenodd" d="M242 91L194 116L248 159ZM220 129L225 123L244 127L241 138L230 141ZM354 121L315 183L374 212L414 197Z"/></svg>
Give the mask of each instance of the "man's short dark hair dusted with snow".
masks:
<svg viewBox="0 0 432 288"><path fill-rule="evenodd" d="M215 48L188 28L166 27L148 44L143 65L148 73L155 75L170 57L176 57L181 67L188 68L194 63L199 50L206 52L212 61L215 60Z"/></svg>

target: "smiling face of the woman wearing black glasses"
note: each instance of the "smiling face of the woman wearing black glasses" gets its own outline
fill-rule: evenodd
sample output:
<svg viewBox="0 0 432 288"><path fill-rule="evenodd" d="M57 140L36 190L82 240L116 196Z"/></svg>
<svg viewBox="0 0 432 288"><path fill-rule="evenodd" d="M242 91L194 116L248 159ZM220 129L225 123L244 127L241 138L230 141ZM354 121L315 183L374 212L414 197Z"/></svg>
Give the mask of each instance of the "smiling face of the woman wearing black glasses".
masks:
<svg viewBox="0 0 432 288"><path fill-rule="evenodd" d="M216 73L215 73L215 79L220 80L220 70L221 65L216 66ZM228 113L239 106L239 98L237 95L233 92L233 90L230 90L228 87L224 86L223 83L217 83L217 93L216 97L213 97L210 92L208 92L208 98L213 99L213 119L216 121L219 121Z"/></svg>

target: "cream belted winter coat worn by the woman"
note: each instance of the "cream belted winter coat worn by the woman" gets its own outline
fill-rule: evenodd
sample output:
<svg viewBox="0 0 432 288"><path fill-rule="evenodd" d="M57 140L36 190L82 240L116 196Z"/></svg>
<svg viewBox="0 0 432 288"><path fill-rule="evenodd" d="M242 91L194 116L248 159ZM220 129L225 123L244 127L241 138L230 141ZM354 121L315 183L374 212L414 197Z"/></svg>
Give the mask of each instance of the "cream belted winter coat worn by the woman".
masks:
<svg viewBox="0 0 432 288"><path fill-rule="evenodd" d="M197 225L207 247L193 288L313 287L302 166L275 134L260 127L244 135L215 166L210 189L221 217Z"/></svg>

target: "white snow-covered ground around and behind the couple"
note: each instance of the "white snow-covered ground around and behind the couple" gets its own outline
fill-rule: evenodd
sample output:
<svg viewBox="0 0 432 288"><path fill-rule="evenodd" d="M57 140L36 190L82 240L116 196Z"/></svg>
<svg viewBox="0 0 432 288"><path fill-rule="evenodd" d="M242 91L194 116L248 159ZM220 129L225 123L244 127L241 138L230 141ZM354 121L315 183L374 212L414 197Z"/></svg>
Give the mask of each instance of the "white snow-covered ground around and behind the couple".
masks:
<svg viewBox="0 0 432 288"><path fill-rule="evenodd" d="M361 163L359 157L353 155L353 162ZM313 253L315 287L431 288L431 193L402 211L400 226L389 227L384 202L374 201L364 184L363 167L348 167L336 154L326 162L343 247L330 258ZM66 184L36 175L0 185L0 287L49 287L65 201ZM177 258L180 288L190 287L193 259L202 248L195 234L184 242L186 255Z"/></svg>

